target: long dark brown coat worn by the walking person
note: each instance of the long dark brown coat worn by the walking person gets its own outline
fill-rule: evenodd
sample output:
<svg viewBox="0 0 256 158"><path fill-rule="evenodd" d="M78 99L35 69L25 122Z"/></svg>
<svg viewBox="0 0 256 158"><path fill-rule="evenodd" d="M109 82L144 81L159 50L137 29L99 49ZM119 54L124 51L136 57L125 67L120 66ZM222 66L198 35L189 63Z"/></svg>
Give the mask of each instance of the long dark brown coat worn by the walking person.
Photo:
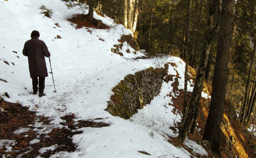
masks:
<svg viewBox="0 0 256 158"><path fill-rule="evenodd" d="M30 77L47 77L47 67L44 57L50 57L50 52L44 41L35 37L24 44L23 55L29 59Z"/></svg>

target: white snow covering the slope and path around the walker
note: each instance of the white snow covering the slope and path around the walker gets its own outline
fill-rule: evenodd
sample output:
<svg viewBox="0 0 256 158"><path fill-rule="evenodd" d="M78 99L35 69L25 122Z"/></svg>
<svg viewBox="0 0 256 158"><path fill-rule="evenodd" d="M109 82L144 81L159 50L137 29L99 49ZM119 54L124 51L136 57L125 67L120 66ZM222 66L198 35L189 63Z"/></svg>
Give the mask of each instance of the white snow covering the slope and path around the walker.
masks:
<svg viewBox="0 0 256 158"><path fill-rule="evenodd" d="M38 7L41 5L53 9L52 18L40 14ZM172 91L171 81L169 84L163 83L160 94L150 105L139 110L131 120L114 117L104 111L107 107L106 101L113 94L111 89L126 75L149 67L156 68L153 59L133 60L132 58L144 54L126 53L125 48L130 47L129 45L125 45L122 50L124 57L110 51L114 48L113 45L120 44L117 40L122 35L131 33L130 30L115 24L110 18L102 18L97 14L94 14L94 17L111 26L110 29L75 29L66 19L81 11L76 8L67 9L60 0L52 0L52 3L51 0L1 1L0 8L3 13L0 15L0 78L8 82L0 81L0 95L6 101L29 106L30 110L36 110L38 115L52 117L54 120L51 122L54 125L47 126L44 132L50 132L56 126L62 127L59 124L62 121L60 117L69 113L75 113L79 120L103 118L101 122L110 124L104 128L79 129L83 133L73 137L73 142L78 142L78 150L72 153L59 152L51 157L148 158L166 155L166 158L190 158L190 153L185 149L173 146L163 137L165 134L177 136L169 127L173 126L173 118L181 118L179 114L176 116L171 112L172 106L163 107L171 102L171 97L164 97ZM56 27L55 23L60 27ZM87 32L88 29L92 34ZM57 93L53 92L51 74L48 74L49 77L45 79L47 96L42 98L30 94L32 81L27 57L22 55L24 43L30 39L32 30L40 32L39 39L47 44L51 53L57 90ZM62 39L55 39L57 35ZM100 41L99 38L105 41ZM17 54L13 51L17 51ZM164 63L174 62L178 66L175 69L181 77L178 79L179 89L183 89L185 63L178 57L164 60ZM50 71L48 59L47 68ZM169 74L176 75L174 67L170 66ZM190 86L188 88L192 91ZM5 92L8 92L10 98L3 96ZM64 112L57 109L63 109ZM149 126L153 121L156 125ZM150 135L152 132L154 136ZM195 152L207 155L202 146L195 142L187 139L186 144L193 146ZM139 153L139 150L146 151L151 156Z"/></svg>

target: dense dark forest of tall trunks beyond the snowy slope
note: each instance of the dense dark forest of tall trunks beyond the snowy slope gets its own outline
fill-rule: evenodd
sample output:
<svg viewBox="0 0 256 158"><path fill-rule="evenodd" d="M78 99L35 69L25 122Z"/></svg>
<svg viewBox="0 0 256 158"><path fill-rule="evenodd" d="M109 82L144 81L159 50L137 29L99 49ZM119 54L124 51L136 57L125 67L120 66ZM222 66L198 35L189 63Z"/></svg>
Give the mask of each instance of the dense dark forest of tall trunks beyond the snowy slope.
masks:
<svg viewBox="0 0 256 158"><path fill-rule="evenodd" d="M255 0L63 1L69 7L77 5L74 2L89 5L91 21L94 7L131 29L140 49L151 56L179 56L188 63L186 72L188 65L197 70L192 97L184 99L179 141L183 142L189 131L193 133L204 80L212 84L212 101L203 138L219 141L216 133L225 99L239 114L241 126L255 121ZM217 150L218 143L214 145Z"/></svg>

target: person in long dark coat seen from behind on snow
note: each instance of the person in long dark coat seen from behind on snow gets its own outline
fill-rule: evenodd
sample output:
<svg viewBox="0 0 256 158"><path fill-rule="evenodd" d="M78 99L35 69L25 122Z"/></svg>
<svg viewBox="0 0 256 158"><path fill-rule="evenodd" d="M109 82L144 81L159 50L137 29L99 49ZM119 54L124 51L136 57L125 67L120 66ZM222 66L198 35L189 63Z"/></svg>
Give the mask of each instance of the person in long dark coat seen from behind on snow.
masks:
<svg viewBox="0 0 256 158"><path fill-rule="evenodd" d="M24 44L23 55L27 56L29 60L29 72L30 77L32 78L33 94L37 94L39 90L38 95L41 97L45 96L45 77L48 77L45 57L50 57L51 54L44 41L39 40L39 36L40 34L38 31L32 31L31 39Z"/></svg>

